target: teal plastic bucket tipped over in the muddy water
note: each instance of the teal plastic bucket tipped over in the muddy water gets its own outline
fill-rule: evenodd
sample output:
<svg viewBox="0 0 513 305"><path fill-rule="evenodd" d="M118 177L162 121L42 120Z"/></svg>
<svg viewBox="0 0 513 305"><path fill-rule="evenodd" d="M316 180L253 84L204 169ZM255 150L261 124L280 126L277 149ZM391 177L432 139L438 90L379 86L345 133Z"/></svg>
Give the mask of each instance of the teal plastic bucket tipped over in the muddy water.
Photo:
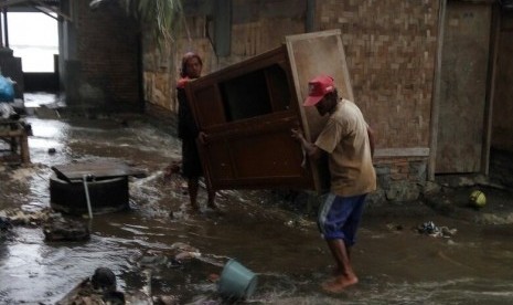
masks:
<svg viewBox="0 0 513 305"><path fill-rule="evenodd" d="M221 273L218 292L227 298L249 298L257 286L257 275L231 259Z"/></svg>

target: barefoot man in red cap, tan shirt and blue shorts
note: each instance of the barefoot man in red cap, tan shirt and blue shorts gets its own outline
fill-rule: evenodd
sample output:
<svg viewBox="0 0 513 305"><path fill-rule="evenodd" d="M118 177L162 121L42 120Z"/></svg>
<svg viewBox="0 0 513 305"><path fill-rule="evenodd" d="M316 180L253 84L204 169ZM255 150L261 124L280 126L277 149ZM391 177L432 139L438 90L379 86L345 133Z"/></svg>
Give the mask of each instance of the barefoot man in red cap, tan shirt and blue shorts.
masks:
<svg viewBox="0 0 513 305"><path fill-rule="evenodd" d="M303 106L316 106L328 122L314 143L300 130L292 130L308 156L318 159L329 155L331 187L319 209L319 229L336 262L334 278L323 283L329 292L341 292L359 282L351 266L350 250L367 193L376 189L372 162L374 136L360 108L351 101L339 98L333 77L320 75L308 83Z"/></svg>

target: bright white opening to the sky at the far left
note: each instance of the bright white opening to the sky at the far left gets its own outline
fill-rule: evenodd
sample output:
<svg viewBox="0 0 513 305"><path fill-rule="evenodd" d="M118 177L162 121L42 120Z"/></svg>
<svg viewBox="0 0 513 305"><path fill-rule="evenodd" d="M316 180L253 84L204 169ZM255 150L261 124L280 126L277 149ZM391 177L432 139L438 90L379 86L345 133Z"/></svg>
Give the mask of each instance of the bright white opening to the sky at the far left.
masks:
<svg viewBox="0 0 513 305"><path fill-rule="evenodd" d="M57 21L44 13L9 12L9 48L23 72L53 72L58 54Z"/></svg>

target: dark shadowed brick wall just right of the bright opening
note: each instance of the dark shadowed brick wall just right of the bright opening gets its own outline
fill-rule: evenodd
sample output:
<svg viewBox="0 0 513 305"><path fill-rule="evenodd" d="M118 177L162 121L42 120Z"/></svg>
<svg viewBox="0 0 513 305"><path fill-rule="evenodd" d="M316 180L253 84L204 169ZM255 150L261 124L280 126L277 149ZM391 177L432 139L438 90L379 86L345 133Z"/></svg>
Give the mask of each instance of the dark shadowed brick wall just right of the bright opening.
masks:
<svg viewBox="0 0 513 305"><path fill-rule="evenodd" d="M82 99L115 108L138 107L137 23L115 1L97 10L90 10L89 1L73 2Z"/></svg>

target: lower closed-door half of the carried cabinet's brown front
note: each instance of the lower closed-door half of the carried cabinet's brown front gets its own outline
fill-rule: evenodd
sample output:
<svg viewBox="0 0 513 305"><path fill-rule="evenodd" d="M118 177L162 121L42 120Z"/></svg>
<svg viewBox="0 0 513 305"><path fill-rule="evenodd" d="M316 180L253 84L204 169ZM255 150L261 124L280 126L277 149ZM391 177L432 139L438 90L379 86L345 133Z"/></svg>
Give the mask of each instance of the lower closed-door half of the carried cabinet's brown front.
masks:
<svg viewBox="0 0 513 305"><path fill-rule="evenodd" d="M289 112L211 132L207 144L200 146L210 183L216 189L311 188L301 148L290 136L298 124L297 114Z"/></svg>

